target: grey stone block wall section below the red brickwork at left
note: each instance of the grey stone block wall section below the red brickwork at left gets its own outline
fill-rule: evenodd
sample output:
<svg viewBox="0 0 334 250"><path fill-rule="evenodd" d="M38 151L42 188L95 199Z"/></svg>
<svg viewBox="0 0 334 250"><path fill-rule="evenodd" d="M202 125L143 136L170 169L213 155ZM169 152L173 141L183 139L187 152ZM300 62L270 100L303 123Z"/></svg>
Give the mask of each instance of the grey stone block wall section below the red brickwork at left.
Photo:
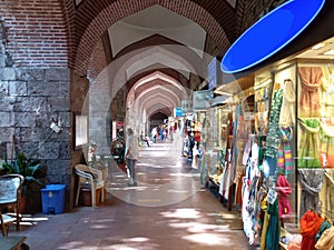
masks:
<svg viewBox="0 0 334 250"><path fill-rule="evenodd" d="M48 183L70 187L70 131L69 69L0 68L0 141L9 158L23 151L40 159Z"/></svg>

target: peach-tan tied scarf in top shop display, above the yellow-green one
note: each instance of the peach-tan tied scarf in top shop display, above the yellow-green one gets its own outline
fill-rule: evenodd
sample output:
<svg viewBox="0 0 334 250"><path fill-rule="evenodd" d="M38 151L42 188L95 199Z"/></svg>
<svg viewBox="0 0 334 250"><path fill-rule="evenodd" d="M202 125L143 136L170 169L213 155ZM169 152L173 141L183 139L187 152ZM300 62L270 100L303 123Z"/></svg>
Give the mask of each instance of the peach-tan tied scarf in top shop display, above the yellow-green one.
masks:
<svg viewBox="0 0 334 250"><path fill-rule="evenodd" d="M323 71L321 67L299 67L301 98L299 117L320 117L320 86Z"/></svg>

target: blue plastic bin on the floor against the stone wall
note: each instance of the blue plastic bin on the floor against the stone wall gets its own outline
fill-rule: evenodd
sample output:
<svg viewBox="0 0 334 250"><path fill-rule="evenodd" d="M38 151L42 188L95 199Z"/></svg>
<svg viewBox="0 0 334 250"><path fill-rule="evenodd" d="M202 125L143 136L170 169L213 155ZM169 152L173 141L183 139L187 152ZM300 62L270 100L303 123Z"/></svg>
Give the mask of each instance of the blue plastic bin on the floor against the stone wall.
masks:
<svg viewBox="0 0 334 250"><path fill-rule="evenodd" d="M41 189L42 213L62 213L65 207L65 184L47 184Z"/></svg>

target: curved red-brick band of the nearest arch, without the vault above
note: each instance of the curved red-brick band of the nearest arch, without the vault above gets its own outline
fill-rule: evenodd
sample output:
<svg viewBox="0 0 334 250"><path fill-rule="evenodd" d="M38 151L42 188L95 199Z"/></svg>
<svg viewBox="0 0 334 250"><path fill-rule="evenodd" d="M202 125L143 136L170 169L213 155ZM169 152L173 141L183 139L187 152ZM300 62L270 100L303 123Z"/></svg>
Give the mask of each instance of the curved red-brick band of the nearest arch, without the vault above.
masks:
<svg viewBox="0 0 334 250"><path fill-rule="evenodd" d="M91 22L88 23L84 33L80 36L80 38L77 38L80 39L80 41L78 42L77 53L73 62L75 69L80 74L86 74L92 49L98 39L110 26L125 17L139 12L155 4L160 4L161 7L198 23L204 30L207 31L220 50L225 51L229 47L230 42L228 41L227 34L217 20L203 7L193 2L191 0L118 0L106 6L97 13L96 17L92 17ZM88 7L91 8L92 6Z"/></svg>

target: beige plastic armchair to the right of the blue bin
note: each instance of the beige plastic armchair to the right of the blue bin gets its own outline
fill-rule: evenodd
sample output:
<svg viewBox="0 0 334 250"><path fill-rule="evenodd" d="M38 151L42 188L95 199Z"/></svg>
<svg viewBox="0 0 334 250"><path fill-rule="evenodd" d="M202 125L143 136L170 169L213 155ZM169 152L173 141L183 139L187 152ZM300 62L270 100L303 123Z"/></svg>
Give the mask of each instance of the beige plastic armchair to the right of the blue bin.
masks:
<svg viewBox="0 0 334 250"><path fill-rule="evenodd" d="M78 189L76 206L79 203L79 196L81 188L89 188L91 190L91 206L96 207L96 191L101 189L101 202L105 201L105 181L102 179L102 171L89 168L87 164L77 164L75 167L75 172L78 178Z"/></svg>

